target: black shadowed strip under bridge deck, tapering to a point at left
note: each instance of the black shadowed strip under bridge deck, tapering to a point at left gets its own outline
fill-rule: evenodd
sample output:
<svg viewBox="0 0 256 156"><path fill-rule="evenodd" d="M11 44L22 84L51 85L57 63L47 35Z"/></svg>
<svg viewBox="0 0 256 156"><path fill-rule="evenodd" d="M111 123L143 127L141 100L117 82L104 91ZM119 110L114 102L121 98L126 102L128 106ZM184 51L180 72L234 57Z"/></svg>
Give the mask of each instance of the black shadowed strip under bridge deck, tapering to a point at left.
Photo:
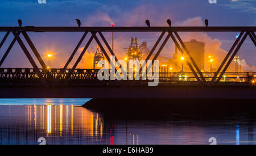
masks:
<svg viewBox="0 0 256 156"><path fill-rule="evenodd" d="M91 99L82 107L105 119L256 119L255 99Z"/></svg>

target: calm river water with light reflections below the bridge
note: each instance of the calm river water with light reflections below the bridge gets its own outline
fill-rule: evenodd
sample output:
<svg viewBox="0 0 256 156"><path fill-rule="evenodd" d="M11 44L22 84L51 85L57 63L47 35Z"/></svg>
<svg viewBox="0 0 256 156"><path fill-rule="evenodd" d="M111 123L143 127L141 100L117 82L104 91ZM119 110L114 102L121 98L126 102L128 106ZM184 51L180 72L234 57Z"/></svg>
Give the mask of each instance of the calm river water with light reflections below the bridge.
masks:
<svg viewBox="0 0 256 156"><path fill-rule="evenodd" d="M0 99L0 144L256 144L255 120L105 119L89 99ZM168 117L167 117L168 118Z"/></svg>

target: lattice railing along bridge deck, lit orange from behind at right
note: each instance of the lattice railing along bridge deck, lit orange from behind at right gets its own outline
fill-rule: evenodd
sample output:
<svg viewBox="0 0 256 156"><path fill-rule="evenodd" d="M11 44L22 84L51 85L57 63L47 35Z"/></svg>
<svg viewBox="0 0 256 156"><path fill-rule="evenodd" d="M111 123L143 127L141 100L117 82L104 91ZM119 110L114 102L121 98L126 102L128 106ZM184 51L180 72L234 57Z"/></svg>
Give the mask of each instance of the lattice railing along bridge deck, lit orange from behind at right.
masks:
<svg viewBox="0 0 256 156"><path fill-rule="evenodd" d="M69 79L69 80L90 80L98 81L98 71L99 69L39 69L42 72L42 75L46 80L56 80L56 79ZM122 76L122 73L119 73ZM146 78L148 80L148 75L146 73L140 73L139 76L134 73L129 75L127 73L127 79L129 76L135 79L135 77L142 80ZM204 78L206 81L212 81L214 78L215 72L203 72ZM159 81L197 81L195 75L192 72L167 72L160 71L159 73L152 73L154 79L159 79ZM109 80L110 80L110 71L109 71ZM220 74L217 78L220 77ZM39 76L34 69L30 68L0 68L0 82L1 81L11 81L11 80L39 80ZM115 79L117 79L115 75ZM152 79L152 77L151 77ZM249 82L256 80L256 72L225 72L221 77L221 82Z"/></svg>

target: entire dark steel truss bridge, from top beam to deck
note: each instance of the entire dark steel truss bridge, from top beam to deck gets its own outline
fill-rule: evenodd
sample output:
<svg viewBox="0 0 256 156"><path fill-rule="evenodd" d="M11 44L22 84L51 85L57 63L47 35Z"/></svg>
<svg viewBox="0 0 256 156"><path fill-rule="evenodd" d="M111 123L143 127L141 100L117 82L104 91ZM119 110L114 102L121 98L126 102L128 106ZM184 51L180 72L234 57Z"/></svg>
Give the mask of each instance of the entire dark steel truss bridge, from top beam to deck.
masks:
<svg viewBox="0 0 256 156"><path fill-rule="evenodd" d="M228 73L226 70L241 48L246 37L250 37L252 44L256 47L256 27L0 27L0 32L6 32L1 40L0 50L5 44L7 37L13 34L14 38L0 60L0 97L2 98L143 98L148 97L148 92L154 94L155 98L253 98L255 99L255 85L250 83L255 77L255 73ZM74 48L66 64L60 69L47 69L47 65L40 56L34 43L27 32L82 32L83 35ZM188 73L168 73L159 71L159 86L148 87L147 81L98 81L97 70L77 69L77 65L84 56L86 49L94 39L104 53L106 60L110 63L110 55L115 56L108 41L102 32L160 32L146 62L156 51L152 64L158 58L168 40L174 41L177 49L185 56L185 60L191 72ZM221 65L214 73L201 72L195 60L181 37L180 32L240 32L234 41L229 52L226 54ZM164 35L165 38L163 39ZM22 35L36 56L40 66L36 65L31 53L26 47ZM67 69L77 50L81 47L85 37L90 35L89 40L82 49L79 57L71 69ZM102 44L102 41L105 44ZM163 41L162 41L163 40ZM1 68L6 57L13 48L15 42L30 61L32 69L21 68ZM162 41L162 43L161 43ZM159 47L157 49L157 47ZM118 58L115 56L115 61ZM145 66L145 65L143 65ZM117 70L117 69L115 69ZM142 71L142 70L140 70ZM140 75L143 73L140 73ZM185 77L184 77L185 76ZM139 91L140 90L140 91ZM135 91L135 93L134 93ZM196 94L195 94L195 92ZM223 96L230 92L228 96ZM172 95L170 95L172 94ZM247 94L247 95L243 95Z"/></svg>

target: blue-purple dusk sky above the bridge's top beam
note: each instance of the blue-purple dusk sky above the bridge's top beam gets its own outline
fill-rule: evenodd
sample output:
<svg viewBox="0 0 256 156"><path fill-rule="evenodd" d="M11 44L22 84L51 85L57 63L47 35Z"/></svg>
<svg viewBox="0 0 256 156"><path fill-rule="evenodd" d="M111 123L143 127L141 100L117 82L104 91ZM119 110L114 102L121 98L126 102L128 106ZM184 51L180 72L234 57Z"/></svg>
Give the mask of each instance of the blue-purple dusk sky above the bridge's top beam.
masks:
<svg viewBox="0 0 256 156"><path fill-rule="evenodd" d="M255 26L255 0L217 0L217 4L210 5L208 0L46 0L46 4L39 4L38 0L2 0L0 6L0 24L2 26L16 26L16 19L23 19L27 24L35 26L72 26L73 19L86 19L97 12L105 12L116 25L126 26L123 15L146 17L151 19L154 26L162 26L157 18L168 15L174 21L182 21L189 17L201 16L208 18L210 26ZM135 14L135 9L143 8L142 15ZM138 11L138 10L137 10ZM139 11L138 11L139 12ZM153 15L153 16L152 16ZM127 17L126 16L126 17ZM156 18L156 19L155 19ZM166 17L164 17L166 18ZM102 26L104 21L90 23ZM85 26L88 24L84 23ZM105 22L105 25L108 23ZM144 26L144 20L133 24Z"/></svg>

